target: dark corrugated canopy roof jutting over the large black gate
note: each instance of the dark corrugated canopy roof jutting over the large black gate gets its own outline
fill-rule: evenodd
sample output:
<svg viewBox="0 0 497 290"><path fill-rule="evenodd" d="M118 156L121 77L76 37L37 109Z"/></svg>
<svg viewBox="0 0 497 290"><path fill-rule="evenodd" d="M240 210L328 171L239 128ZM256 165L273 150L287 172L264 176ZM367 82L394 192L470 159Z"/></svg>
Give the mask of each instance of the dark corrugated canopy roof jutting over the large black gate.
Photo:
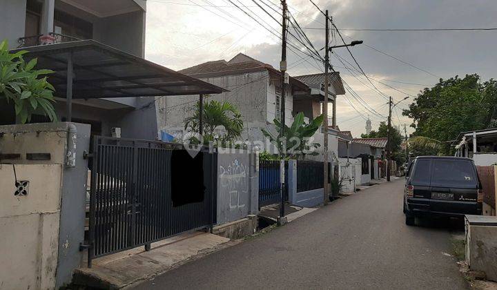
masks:
<svg viewBox="0 0 497 290"><path fill-rule="evenodd" d="M37 68L55 71L49 76L49 81L55 87L57 97L66 97L70 53L74 67L74 99L199 95L226 91L93 40L13 51L18 50L28 50L25 59L37 57Z"/></svg>

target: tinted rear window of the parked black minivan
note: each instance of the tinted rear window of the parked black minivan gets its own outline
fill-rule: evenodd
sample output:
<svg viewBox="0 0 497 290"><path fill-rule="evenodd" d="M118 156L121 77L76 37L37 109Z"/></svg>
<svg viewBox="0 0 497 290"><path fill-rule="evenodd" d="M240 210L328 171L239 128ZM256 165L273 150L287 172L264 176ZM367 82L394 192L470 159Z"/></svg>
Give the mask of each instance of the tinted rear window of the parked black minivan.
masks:
<svg viewBox="0 0 497 290"><path fill-rule="evenodd" d="M433 160L431 186L475 186L477 178L469 160Z"/></svg>

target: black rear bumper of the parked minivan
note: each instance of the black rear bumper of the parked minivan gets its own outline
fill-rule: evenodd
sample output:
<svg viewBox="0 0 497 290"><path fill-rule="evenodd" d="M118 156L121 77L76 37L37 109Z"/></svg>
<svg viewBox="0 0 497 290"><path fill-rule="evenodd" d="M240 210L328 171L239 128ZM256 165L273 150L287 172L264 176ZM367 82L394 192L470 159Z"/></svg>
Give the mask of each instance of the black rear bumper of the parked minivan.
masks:
<svg viewBox="0 0 497 290"><path fill-rule="evenodd" d="M413 215L440 215L462 217L481 215L482 204L456 200L430 200L427 198L407 198L407 210Z"/></svg>

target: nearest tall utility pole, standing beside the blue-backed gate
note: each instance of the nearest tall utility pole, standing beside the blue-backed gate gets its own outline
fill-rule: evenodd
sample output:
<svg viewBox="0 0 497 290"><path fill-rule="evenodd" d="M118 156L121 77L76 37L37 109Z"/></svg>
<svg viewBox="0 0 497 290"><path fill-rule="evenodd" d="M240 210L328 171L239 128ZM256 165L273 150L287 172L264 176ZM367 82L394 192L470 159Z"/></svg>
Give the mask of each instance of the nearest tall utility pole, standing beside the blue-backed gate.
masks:
<svg viewBox="0 0 497 290"><path fill-rule="evenodd" d="M284 155L286 151L286 139L284 138L284 128L285 128L285 72L286 72L286 0L282 0L282 60L280 62L281 70L281 114L280 114L280 142L282 142L280 155L282 160L280 161L280 218L277 219L277 224L282 224L282 218L284 217L284 176L285 176L285 166L284 166Z"/></svg>

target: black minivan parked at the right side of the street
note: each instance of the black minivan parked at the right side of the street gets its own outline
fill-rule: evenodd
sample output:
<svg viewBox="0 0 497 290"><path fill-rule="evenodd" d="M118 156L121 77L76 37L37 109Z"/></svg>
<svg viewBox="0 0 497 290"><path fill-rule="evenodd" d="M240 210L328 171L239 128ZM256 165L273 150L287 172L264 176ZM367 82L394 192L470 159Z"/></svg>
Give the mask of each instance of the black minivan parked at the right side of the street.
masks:
<svg viewBox="0 0 497 290"><path fill-rule="evenodd" d="M406 174L406 224L416 217L481 215L483 193L473 160L463 157L419 156Z"/></svg>

